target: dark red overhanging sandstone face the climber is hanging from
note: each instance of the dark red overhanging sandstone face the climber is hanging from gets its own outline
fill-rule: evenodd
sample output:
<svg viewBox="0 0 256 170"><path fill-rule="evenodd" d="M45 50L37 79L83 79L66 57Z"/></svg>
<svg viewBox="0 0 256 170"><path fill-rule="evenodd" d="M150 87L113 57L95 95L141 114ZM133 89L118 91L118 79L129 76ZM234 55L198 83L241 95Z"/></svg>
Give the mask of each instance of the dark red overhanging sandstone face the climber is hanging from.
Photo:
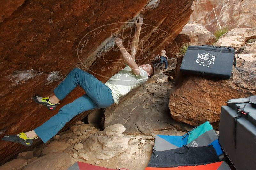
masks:
<svg viewBox="0 0 256 170"><path fill-rule="evenodd" d="M12 12L5 17L2 15L2 20L5 19L0 24L0 138L30 131L56 114L58 109L49 111L33 102L31 97L52 95L53 89L74 67L89 70L103 82L117 73L124 65L119 60L120 52L110 48L113 28L119 28L119 32L124 28L125 37L134 24L124 22L133 22L133 17L142 16L144 33L140 39L144 39L147 46L140 44L143 50L138 51L136 59L139 64L148 62L181 32L195 3L193 0L39 0L26 1L20 6L22 1L15 5L11 2L8 1L4 10ZM106 25L110 22L117 24ZM91 39L84 44L83 53L78 58L75 52L79 41L102 25L104 30L91 32ZM125 45L128 40L131 40L129 36L124 40ZM108 51L104 51L105 44ZM116 69L112 69L114 66ZM83 93L81 88L75 89L59 108ZM88 114L78 115L63 130ZM33 146L39 141L35 140ZM0 155L5 155L0 164L25 149L20 144L0 141Z"/></svg>

